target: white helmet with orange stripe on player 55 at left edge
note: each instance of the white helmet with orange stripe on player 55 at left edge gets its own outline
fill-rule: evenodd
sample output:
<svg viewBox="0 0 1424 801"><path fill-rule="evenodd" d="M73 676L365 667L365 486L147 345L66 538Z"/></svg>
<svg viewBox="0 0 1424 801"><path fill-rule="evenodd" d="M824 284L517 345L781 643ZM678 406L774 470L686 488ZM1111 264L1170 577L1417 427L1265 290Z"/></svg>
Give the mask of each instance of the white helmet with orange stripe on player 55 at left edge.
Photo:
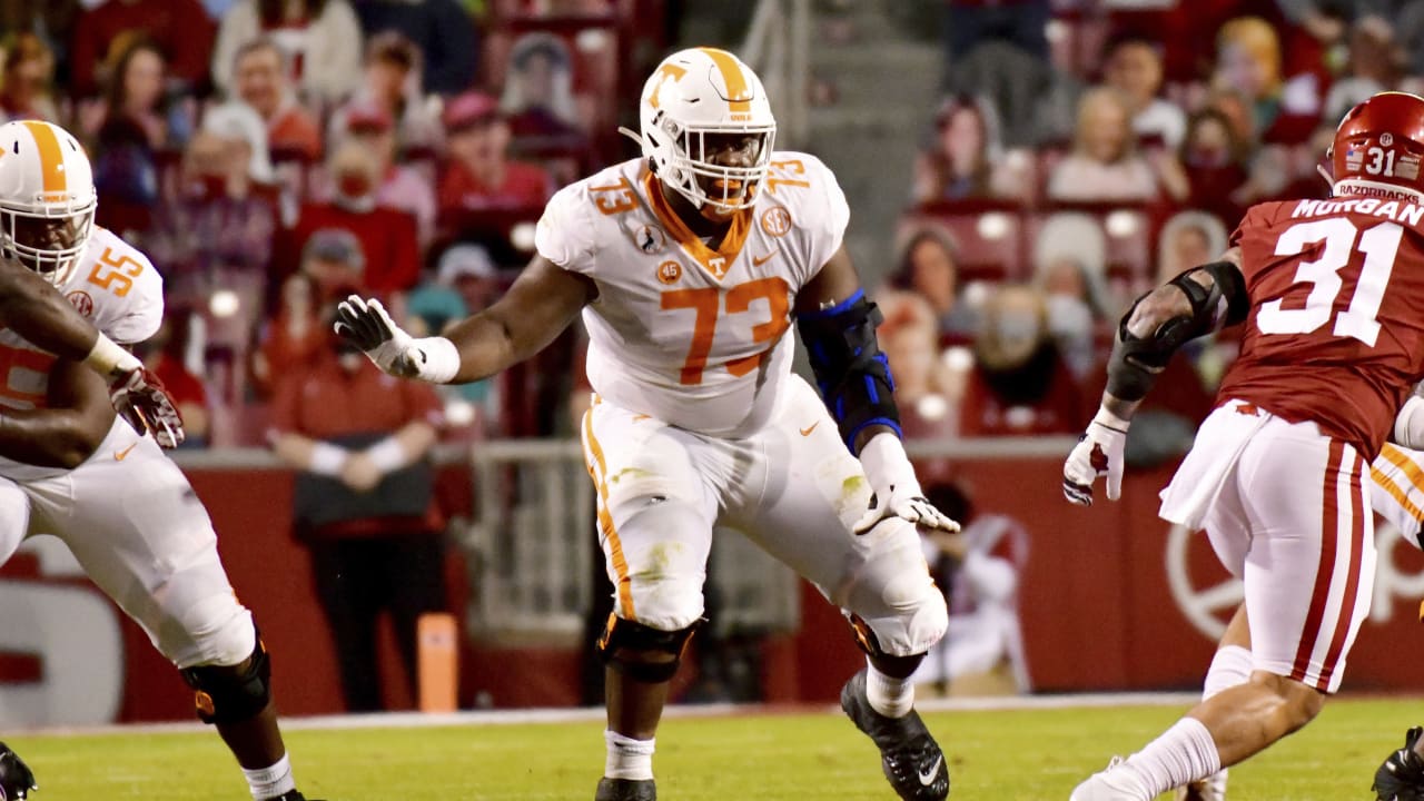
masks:
<svg viewBox="0 0 1424 801"><path fill-rule="evenodd" d="M68 131L40 120L0 125L0 254L63 285L97 204L88 155Z"/></svg>

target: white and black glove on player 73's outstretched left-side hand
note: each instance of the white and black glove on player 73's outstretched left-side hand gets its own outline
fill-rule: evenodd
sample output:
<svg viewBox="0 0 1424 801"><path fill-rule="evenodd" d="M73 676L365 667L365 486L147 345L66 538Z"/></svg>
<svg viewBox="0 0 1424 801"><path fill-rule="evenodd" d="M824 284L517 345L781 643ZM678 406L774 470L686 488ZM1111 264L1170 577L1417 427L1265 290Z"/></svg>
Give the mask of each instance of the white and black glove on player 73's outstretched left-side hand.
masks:
<svg viewBox="0 0 1424 801"><path fill-rule="evenodd" d="M460 369L460 353L444 336L416 339L402 331L380 301L350 295L336 305L336 334L397 378L443 383Z"/></svg>

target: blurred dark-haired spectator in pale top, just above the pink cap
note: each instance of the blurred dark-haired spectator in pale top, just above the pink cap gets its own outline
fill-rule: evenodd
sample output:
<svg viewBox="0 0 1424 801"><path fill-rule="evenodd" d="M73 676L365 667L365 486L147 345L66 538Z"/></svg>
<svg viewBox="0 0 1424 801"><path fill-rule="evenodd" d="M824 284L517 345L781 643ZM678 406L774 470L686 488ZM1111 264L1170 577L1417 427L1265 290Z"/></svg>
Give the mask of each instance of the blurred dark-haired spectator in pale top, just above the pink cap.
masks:
<svg viewBox="0 0 1424 801"><path fill-rule="evenodd" d="M332 114L328 141L340 141L350 128L350 115L359 111L367 118L379 113L394 124L396 141L404 151L440 145L440 118L420 90L420 51L409 38L396 31L372 37L362 74L356 97Z"/></svg>

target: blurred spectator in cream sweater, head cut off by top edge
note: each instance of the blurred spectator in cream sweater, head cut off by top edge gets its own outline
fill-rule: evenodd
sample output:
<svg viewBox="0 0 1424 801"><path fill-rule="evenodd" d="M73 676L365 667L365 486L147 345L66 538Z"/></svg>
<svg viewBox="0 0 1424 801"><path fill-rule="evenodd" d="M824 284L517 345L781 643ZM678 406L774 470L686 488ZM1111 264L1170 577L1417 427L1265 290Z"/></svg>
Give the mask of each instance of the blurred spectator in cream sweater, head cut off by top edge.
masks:
<svg viewBox="0 0 1424 801"><path fill-rule="evenodd" d="M238 0L222 16L212 50L219 88L232 90L238 48L263 34L282 50L306 103L335 104L360 81L360 23L346 0Z"/></svg>

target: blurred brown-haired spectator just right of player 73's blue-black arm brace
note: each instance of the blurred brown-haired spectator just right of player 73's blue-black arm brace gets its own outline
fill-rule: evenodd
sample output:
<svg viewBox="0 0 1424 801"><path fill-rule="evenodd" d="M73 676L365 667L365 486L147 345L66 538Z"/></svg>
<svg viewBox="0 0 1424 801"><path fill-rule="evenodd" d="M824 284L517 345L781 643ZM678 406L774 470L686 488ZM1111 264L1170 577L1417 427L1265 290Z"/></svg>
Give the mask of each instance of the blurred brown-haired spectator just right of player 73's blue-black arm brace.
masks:
<svg viewBox="0 0 1424 801"><path fill-rule="evenodd" d="M899 254L887 285L914 292L930 304L941 342L968 342L978 322L963 301L954 237L941 225L924 224L903 237Z"/></svg>

